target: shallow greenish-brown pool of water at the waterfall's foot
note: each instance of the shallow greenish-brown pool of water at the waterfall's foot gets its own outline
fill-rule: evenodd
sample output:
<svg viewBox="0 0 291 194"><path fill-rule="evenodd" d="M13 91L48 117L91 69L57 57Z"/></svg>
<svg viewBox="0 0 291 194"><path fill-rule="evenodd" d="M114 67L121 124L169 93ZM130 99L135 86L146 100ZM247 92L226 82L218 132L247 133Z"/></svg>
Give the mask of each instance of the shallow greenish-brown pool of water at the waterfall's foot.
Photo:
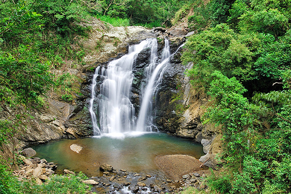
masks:
<svg viewBox="0 0 291 194"><path fill-rule="evenodd" d="M83 147L79 154L70 149L72 144ZM200 144L162 132L106 134L83 139L64 139L32 148L37 152L36 157L57 163L58 170L67 168L82 171L87 176L99 176L99 166L102 163L111 164L117 170L150 172L159 170L155 164L155 158L159 155L186 154L197 159L204 155Z"/></svg>

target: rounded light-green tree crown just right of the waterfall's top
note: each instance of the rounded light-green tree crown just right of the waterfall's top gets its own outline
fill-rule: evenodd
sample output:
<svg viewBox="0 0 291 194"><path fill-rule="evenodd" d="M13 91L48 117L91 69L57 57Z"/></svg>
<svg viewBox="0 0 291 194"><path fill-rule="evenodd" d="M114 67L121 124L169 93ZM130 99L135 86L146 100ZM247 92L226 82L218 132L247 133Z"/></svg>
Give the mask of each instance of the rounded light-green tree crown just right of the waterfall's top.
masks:
<svg viewBox="0 0 291 194"><path fill-rule="evenodd" d="M188 71L194 84L209 87L213 79L211 72L214 70L220 70L227 77L234 76L240 81L254 79L253 53L242 41L237 41L237 37L238 34L226 24L220 24L187 40L181 59L184 64L194 63Z"/></svg>

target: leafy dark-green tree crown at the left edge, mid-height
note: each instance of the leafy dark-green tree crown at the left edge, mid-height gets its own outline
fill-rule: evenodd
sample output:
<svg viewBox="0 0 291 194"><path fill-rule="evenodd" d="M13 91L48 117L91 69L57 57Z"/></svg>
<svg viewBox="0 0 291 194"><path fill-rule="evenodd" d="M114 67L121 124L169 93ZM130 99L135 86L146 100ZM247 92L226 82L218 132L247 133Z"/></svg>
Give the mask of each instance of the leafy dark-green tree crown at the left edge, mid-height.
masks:
<svg viewBox="0 0 291 194"><path fill-rule="evenodd" d="M15 95L21 103L37 101L52 83L48 70L27 46L20 45L12 53L0 51L0 100Z"/></svg>

